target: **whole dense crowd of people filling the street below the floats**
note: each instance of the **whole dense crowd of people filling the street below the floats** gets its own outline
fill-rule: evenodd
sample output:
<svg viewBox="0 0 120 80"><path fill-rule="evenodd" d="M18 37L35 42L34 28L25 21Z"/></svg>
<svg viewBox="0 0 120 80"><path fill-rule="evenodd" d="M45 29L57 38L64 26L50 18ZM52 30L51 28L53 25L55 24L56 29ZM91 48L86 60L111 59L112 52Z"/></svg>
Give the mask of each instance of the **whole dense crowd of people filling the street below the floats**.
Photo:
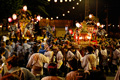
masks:
<svg viewBox="0 0 120 80"><path fill-rule="evenodd" d="M119 80L118 39L101 38L97 44L82 46L71 38L47 40L0 38L1 80Z"/></svg>

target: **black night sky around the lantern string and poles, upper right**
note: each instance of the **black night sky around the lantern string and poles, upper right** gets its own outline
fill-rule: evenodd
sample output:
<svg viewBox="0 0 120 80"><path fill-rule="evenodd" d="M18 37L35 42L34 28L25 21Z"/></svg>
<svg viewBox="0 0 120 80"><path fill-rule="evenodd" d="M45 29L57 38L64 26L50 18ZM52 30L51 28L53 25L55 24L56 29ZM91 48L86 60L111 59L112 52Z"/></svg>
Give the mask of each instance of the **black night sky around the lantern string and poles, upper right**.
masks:
<svg viewBox="0 0 120 80"><path fill-rule="evenodd" d="M58 0L59 1L59 0ZM90 1L90 14L96 15L96 0ZM68 19L74 21L82 21L85 18L85 0L82 0L79 5L76 3L79 0L75 0L72 2L57 2L55 3L51 0L50 4L46 6L46 10L49 13L49 18L53 17L55 19L56 16L59 16L59 19ZM75 7L73 10L72 7ZM70 11L68 14L67 11ZM118 0L98 0L98 18L99 21L105 24L105 18L108 14L108 23L118 25L120 24L120 4ZM62 14L66 14L62 16Z"/></svg>

